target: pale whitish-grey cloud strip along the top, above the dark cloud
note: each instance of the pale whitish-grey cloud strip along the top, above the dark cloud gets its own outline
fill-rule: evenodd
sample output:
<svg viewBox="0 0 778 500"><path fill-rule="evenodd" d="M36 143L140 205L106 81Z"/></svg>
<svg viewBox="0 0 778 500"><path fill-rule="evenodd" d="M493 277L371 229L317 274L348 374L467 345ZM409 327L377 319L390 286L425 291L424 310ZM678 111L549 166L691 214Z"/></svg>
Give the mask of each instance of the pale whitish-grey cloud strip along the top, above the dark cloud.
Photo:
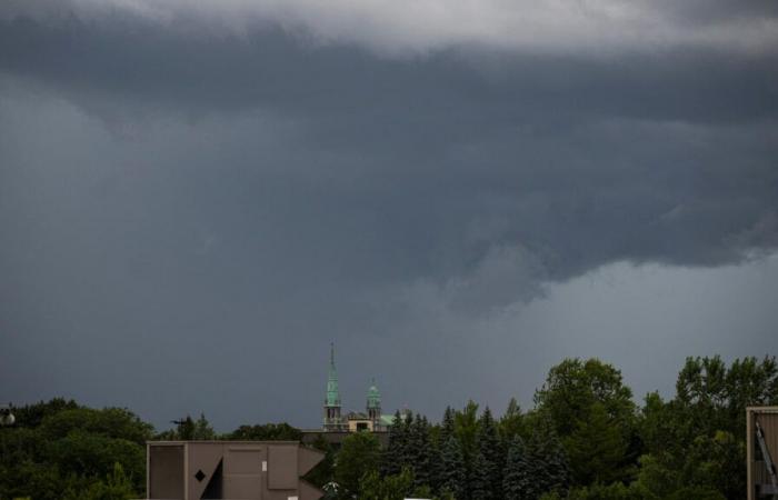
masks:
<svg viewBox="0 0 778 500"><path fill-rule="evenodd" d="M778 47L775 17L708 13L717 8L716 0L684 6L649 0L12 0L0 16L67 13L94 20L131 12L231 34L278 23L315 43L358 43L391 56L462 44L589 56L678 48L762 53Z"/></svg>

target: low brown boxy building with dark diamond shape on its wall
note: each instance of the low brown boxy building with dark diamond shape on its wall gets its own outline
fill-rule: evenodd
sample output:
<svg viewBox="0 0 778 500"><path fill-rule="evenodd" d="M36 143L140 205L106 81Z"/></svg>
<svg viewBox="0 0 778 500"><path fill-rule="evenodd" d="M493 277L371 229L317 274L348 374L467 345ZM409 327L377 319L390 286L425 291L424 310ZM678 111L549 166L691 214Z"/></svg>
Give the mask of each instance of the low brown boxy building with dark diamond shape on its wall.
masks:
<svg viewBox="0 0 778 500"><path fill-rule="evenodd" d="M325 458L297 441L151 441L151 500L317 500L305 476Z"/></svg>

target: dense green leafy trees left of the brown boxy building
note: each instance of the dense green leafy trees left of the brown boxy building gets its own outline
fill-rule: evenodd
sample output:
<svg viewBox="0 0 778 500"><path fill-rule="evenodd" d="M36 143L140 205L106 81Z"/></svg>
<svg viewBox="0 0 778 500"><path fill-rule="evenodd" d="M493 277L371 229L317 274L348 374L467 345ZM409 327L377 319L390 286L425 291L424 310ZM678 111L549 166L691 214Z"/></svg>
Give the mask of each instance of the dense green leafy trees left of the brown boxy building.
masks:
<svg viewBox="0 0 778 500"><path fill-rule="evenodd" d="M124 500L146 482L152 428L132 412L53 399L0 429L0 498Z"/></svg>

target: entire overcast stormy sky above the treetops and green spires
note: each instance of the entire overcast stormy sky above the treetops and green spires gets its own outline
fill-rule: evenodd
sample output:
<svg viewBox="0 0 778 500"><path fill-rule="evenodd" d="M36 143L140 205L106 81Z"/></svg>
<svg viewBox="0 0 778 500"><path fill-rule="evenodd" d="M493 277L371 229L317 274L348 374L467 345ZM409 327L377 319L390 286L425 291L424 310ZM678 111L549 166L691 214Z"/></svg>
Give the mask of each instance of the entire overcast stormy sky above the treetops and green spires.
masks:
<svg viewBox="0 0 778 500"><path fill-rule="evenodd" d="M778 353L774 0L6 0L0 400L159 428Z"/></svg>

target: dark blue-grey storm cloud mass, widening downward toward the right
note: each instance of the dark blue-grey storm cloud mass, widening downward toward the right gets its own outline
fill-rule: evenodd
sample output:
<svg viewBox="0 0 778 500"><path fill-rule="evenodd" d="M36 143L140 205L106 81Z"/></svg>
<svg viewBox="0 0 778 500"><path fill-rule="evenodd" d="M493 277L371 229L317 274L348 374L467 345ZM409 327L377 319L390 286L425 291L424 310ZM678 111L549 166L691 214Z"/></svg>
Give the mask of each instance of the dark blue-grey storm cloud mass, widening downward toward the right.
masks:
<svg viewBox="0 0 778 500"><path fill-rule="evenodd" d="M620 258L710 264L772 244L775 51L597 59L465 47L386 58L273 27L236 36L117 14L99 21L11 18L0 31L2 68L106 117L132 108L287 117L297 144L331 153L336 164L320 168L359 157L359 170L383 176L355 200L368 211L383 206L382 227L401 226L425 202L437 213L420 227L441 231L461 232L448 220L499 214L522 228L523 246L559 253L550 273L560 279ZM387 200L408 188L402 206ZM538 192L547 204L527 211ZM418 251L449 243L432 240ZM495 243L517 241L487 241L475 258Z"/></svg>

